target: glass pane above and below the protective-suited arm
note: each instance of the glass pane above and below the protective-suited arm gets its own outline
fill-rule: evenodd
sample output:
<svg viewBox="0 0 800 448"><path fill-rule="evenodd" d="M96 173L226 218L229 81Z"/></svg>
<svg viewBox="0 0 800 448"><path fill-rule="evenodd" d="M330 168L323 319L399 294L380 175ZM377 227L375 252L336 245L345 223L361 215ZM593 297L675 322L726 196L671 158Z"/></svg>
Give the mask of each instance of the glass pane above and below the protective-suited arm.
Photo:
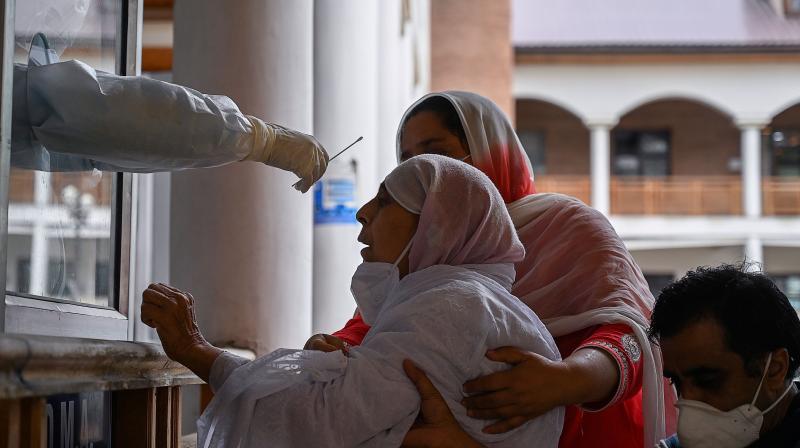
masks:
<svg viewBox="0 0 800 448"><path fill-rule="evenodd" d="M28 62L37 33L60 61L79 59L116 71L120 2L17 2L16 63ZM12 166L9 179L7 285L10 292L113 306L112 180L115 173L52 172Z"/></svg>

